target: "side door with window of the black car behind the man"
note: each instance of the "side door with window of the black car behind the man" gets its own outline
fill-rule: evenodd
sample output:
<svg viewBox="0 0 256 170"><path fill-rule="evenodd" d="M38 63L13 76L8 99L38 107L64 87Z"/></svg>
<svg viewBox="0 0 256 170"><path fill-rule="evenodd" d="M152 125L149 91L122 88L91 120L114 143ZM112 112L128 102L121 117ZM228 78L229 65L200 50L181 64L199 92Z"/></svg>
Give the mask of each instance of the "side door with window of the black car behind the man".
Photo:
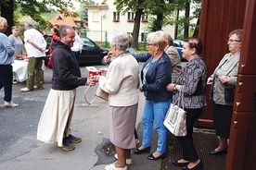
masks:
<svg viewBox="0 0 256 170"><path fill-rule="evenodd" d="M83 50L78 56L78 63L99 63L101 61L101 51L95 42L87 38L82 38Z"/></svg>

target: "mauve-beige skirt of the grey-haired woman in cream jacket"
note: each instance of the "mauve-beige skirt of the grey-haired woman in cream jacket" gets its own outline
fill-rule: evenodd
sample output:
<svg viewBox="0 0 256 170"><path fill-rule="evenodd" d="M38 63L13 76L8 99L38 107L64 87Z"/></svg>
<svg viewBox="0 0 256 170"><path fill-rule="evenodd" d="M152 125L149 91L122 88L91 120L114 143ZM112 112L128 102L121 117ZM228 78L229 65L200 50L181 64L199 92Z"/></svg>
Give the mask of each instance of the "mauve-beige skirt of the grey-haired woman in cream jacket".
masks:
<svg viewBox="0 0 256 170"><path fill-rule="evenodd" d="M122 149L135 148L134 128L138 104L125 107L110 106L109 138Z"/></svg>

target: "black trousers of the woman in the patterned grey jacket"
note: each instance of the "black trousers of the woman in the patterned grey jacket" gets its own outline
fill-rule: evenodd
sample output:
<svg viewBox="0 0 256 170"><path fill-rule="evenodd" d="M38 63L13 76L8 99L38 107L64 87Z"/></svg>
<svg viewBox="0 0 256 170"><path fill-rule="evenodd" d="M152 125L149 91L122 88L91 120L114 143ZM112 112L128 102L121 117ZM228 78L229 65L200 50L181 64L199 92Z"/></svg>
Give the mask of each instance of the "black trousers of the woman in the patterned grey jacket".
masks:
<svg viewBox="0 0 256 170"><path fill-rule="evenodd" d="M176 137L180 142L183 149L183 159L190 162L196 162L198 160L198 152L194 146L193 141L193 125L195 120L202 112L202 108L199 109L186 109L186 130L187 134L185 137Z"/></svg>

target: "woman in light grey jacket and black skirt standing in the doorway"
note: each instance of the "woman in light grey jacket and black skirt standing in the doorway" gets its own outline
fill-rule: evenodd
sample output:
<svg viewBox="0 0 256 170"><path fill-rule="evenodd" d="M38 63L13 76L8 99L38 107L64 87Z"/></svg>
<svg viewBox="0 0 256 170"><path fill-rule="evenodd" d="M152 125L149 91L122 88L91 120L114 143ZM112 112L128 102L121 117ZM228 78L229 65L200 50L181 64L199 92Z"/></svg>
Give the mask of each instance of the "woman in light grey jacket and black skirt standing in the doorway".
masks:
<svg viewBox="0 0 256 170"><path fill-rule="evenodd" d="M238 62L243 38L243 30L233 30L228 35L227 45L230 53L224 55L213 74L208 79L211 84L211 98L213 100L213 125L220 144L210 152L220 155L227 151L233 102L224 100L224 86L237 83Z"/></svg>

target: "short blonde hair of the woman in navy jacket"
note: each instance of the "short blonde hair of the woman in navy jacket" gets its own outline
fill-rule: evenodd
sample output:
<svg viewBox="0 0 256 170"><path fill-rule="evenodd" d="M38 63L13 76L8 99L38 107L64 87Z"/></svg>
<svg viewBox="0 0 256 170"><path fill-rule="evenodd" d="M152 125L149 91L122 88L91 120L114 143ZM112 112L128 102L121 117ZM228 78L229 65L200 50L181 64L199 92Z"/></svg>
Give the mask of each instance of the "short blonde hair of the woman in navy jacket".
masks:
<svg viewBox="0 0 256 170"><path fill-rule="evenodd" d="M164 51L164 48L168 44L167 34L162 30L151 32L147 35L147 42L158 44L160 50Z"/></svg>

